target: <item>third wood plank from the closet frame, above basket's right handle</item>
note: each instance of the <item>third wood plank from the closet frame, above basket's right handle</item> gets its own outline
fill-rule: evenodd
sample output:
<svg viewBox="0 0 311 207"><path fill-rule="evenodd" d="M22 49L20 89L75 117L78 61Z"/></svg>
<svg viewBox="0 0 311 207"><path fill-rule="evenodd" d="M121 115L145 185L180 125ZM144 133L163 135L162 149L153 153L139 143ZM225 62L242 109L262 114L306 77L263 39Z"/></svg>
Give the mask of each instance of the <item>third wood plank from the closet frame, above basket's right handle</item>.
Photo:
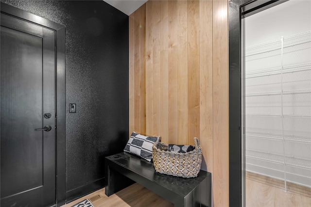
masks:
<svg viewBox="0 0 311 207"><path fill-rule="evenodd" d="M200 12L199 1L188 1L188 143L200 135Z"/></svg>

